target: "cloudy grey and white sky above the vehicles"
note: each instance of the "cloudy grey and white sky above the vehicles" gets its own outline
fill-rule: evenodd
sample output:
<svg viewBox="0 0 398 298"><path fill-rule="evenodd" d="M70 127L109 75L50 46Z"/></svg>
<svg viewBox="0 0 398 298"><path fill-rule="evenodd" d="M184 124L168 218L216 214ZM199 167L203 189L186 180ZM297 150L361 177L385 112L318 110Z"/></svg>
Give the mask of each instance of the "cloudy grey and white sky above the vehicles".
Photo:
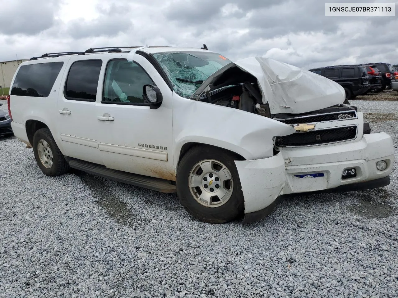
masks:
<svg viewBox="0 0 398 298"><path fill-rule="evenodd" d="M302 68L398 64L398 17L326 17L325 2L392 0L0 0L0 61L100 46L171 45Z"/></svg>

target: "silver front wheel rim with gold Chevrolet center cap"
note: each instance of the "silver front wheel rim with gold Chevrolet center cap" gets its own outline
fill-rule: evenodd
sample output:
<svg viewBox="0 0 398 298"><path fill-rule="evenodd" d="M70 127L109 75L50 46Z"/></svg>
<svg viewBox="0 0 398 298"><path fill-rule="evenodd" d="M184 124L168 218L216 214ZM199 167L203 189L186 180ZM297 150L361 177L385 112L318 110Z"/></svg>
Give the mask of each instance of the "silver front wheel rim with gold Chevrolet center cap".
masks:
<svg viewBox="0 0 398 298"><path fill-rule="evenodd" d="M213 159L205 159L195 164L188 184L196 201L206 207L224 205L230 199L234 187L230 170Z"/></svg>

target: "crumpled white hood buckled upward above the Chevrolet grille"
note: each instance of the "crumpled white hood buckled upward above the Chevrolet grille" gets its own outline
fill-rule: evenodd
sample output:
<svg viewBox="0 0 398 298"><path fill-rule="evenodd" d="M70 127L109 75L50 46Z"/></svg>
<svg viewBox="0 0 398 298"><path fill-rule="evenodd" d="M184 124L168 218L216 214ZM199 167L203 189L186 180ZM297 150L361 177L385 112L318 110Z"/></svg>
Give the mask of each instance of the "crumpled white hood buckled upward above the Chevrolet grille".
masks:
<svg viewBox="0 0 398 298"><path fill-rule="evenodd" d="M263 57L250 57L227 64L208 77L191 99L228 84L243 83L244 76L249 75L256 77L263 103L269 104L271 114L312 112L345 101L345 91L338 83L308 70Z"/></svg>

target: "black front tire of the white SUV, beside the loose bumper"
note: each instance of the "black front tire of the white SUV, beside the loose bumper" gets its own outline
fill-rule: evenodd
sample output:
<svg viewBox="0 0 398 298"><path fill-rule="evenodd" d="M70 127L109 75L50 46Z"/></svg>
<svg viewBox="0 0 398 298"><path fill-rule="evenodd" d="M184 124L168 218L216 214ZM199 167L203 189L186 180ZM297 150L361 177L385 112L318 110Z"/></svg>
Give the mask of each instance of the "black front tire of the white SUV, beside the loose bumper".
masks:
<svg viewBox="0 0 398 298"><path fill-rule="evenodd" d="M227 223L243 215L244 198L235 160L241 160L241 158L229 151L211 146L195 146L183 156L177 169L176 187L179 201L189 214L205 223ZM204 161L208 161L208 164L199 164ZM210 164L212 166L209 166ZM232 179L224 179L228 175L225 175L225 170L221 171L219 166L225 166ZM193 187L189 186L189 182L193 181L190 177L194 172L198 174L198 180L196 180L199 183L198 187L194 187L195 183L192 184ZM218 175L220 175L219 180L216 180ZM207 178L206 181L205 178ZM217 184L217 181L223 181L223 183ZM210 188L209 185L205 190L207 182L215 187ZM217 188L217 185L220 187ZM211 193L212 190L213 193ZM228 195L226 190L232 190L228 197L226 197ZM224 203L219 197L210 197L217 194L224 194L226 198ZM207 197L210 197L210 201L205 200ZM202 199L199 200L200 198Z"/></svg>

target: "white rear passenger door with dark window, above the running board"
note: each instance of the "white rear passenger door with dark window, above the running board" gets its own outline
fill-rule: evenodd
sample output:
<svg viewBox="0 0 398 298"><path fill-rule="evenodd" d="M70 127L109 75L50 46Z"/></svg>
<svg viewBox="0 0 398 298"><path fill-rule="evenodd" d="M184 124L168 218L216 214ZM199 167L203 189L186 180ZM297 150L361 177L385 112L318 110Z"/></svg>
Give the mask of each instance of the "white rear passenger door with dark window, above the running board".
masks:
<svg viewBox="0 0 398 298"><path fill-rule="evenodd" d="M97 143L98 80L101 59L82 60L80 56L69 60L57 102L57 132L64 155L102 164Z"/></svg>

